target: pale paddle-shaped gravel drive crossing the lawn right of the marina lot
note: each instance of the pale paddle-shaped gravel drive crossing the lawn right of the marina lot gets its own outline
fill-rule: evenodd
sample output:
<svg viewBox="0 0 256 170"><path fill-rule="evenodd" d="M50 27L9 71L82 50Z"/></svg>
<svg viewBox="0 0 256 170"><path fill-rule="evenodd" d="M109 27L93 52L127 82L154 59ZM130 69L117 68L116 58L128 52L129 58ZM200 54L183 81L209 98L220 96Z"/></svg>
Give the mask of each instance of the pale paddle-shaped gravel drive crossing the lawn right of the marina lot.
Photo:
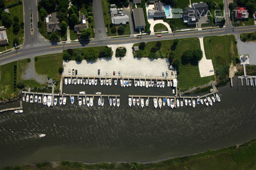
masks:
<svg viewBox="0 0 256 170"><path fill-rule="evenodd" d="M213 62L211 59L206 59L205 57L204 38L203 37L199 38L199 40L200 40L201 50L203 51L203 57L198 62L200 77L212 76L214 75ZM210 72L210 70L213 70L213 71Z"/></svg>

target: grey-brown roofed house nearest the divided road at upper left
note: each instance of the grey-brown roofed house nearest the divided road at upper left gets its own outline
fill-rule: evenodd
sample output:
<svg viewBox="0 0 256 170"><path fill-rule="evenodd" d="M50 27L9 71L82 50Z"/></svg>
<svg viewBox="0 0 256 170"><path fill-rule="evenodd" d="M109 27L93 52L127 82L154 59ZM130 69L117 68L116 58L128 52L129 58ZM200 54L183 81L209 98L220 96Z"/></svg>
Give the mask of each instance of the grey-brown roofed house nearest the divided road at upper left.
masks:
<svg viewBox="0 0 256 170"><path fill-rule="evenodd" d="M46 17L47 32L60 31L60 21L57 18L57 12Z"/></svg>

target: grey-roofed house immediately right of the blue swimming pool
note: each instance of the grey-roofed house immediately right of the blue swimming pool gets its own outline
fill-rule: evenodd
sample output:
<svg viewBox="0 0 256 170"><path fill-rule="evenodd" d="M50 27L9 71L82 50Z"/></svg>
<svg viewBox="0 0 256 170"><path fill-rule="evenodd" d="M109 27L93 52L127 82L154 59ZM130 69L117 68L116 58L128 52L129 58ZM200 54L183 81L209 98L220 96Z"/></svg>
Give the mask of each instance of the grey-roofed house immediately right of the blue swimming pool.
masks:
<svg viewBox="0 0 256 170"><path fill-rule="evenodd" d="M193 8L186 7L186 10L182 11L182 22L188 25L194 25L198 22L197 11Z"/></svg>

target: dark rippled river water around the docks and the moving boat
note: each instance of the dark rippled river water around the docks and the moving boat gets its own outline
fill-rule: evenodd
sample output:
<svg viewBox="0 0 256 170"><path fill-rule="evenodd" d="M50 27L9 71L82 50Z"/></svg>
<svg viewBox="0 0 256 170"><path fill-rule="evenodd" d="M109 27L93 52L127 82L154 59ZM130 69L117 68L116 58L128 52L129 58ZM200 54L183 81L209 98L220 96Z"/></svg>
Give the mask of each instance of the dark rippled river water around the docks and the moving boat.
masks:
<svg viewBox="0 0 256 170"><path fill-rule="evenodd" d="M64 85L64 93L120 94L120 108L23 103L23 113L0 114L0 167L39 161L156 161L203 152L256 138L255 88L218 88L213 107L154 109L128 106L128 95L170 94L169 88ZM14 103L13 105L19 105ZM10 104L8 104L8 107ZM0 105L3 107L3 105ZM46 134L42 139L37 136Z"/></svg>

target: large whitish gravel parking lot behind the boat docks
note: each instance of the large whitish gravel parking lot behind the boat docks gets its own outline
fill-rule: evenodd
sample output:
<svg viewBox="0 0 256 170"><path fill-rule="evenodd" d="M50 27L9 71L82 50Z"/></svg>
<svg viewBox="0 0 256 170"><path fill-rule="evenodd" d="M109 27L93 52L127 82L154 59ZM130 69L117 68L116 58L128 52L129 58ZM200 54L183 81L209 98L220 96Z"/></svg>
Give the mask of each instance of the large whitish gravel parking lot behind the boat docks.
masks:
<svg viewBox="0 0 256 170"><path fill-rule="evenodd" d="M132 54L133 44L124 45L108 45L112 48L114 54L111 59L99 58L95 62L82 62L69 61L65 63L64 75L68 75L68 69L77 69L77 74L80 76L96 76L98 69L100 69L100 75L105 76L106 71L108 75L113 76L113 71L118 76L118 71L121 72L123 77L143 77L143 78L162 78L162 72L168 71L168 78L174 79L175 73L168 69L167 59L148 59L148 58L134 58ZM126 48L126 55L120 60L119 57L115 57L115 51L117 47L124 46ZM171 73L173 76L171 76Z"/></svg>

